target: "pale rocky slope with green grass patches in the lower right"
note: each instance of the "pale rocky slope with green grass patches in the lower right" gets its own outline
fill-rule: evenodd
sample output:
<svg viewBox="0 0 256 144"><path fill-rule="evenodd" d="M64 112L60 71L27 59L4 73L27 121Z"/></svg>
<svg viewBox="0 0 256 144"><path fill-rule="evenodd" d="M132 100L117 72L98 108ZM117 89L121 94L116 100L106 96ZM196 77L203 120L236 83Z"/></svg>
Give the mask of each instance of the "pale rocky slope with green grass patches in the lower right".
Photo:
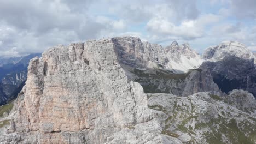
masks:
<svg viewBox="0 0 256 144"><path fill-rule="evenodd" d="M255 104L255 98L252 94L237 92L228 96L230 101L235 101L232 105L224 97L203 92L189 97L162 93L147 95L166 143L256 143L256 117L240 110L250 107L255 111L255 106L251 102L236 101L253 100Z"/></svg>

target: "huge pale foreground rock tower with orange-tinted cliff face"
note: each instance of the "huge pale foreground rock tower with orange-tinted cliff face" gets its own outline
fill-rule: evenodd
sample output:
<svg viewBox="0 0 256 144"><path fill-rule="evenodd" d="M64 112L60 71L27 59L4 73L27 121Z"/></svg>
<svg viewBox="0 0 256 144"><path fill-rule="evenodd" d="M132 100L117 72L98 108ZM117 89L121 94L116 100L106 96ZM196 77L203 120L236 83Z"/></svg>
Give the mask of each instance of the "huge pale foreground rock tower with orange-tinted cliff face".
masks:
<svg viewBox="0 0 256 144"><path fill-rule="evenodd" d="M128 81L112 40L49 49L30 61L22 91L9 134L20 143L162 142L147 97Z"/></svg>

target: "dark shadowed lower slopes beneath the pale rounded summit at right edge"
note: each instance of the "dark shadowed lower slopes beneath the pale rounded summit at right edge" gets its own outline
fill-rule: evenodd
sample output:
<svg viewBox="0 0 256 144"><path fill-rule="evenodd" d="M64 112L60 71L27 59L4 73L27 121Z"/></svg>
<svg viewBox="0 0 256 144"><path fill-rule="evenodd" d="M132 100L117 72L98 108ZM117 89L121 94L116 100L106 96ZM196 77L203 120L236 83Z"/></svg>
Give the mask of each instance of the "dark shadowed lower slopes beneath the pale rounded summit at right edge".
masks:
<svg viewBox="0 0 256 144"><path fill-rule="evenodd" d="M256 94L256 67L253 59L247 60L235 56L227 56L222 61L206 61L200 69L211 71L213 81L222 92L228 94L234 89L243 89Z"/></svg>

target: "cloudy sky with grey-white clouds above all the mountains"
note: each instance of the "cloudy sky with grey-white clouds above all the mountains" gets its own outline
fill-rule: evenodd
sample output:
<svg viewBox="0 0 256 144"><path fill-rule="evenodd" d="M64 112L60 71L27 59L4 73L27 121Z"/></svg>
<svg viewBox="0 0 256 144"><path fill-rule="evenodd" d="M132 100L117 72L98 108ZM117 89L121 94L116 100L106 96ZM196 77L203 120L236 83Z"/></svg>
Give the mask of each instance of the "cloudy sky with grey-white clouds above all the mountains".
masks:
<svg viewBox="0 0 256 144"><path fill-rule="evenodd" d="M0 0L0 57L132 35L202 53L223 40L256 51L255 0Z"/></svg>

